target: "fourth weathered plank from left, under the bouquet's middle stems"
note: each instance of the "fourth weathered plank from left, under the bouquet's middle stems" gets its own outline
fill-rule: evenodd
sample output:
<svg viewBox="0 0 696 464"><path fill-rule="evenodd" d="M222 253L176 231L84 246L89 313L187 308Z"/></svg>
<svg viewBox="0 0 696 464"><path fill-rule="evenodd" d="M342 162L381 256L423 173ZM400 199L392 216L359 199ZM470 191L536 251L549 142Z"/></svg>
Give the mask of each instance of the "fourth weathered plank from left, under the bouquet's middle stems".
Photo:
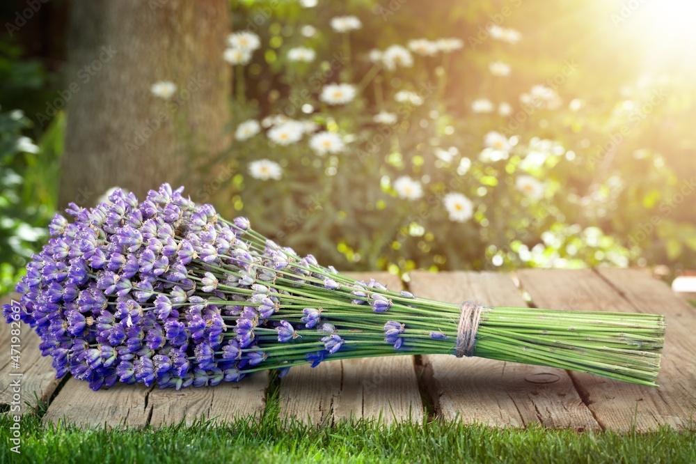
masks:
<svg viewBox="0 0 696 464"><path fill-rule="evenodd" d="M374 277L390 289L400 289L397 276L385 272L354 273ZM412 356L345 359L316 368L290 370L280 387L280 415L310 424L340 419L378 419L420 422L423 406Z"/></svg>

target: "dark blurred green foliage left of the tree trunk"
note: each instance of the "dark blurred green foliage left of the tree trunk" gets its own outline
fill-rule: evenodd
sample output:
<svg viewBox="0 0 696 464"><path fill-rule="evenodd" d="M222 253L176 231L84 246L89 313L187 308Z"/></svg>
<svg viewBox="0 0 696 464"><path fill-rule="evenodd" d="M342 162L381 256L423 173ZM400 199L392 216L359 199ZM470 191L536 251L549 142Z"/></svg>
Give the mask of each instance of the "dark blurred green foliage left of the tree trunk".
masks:
<svg viewBox="0 0 696 464"><path fill-rule="evenodd" d="M52 95L40 61L0 40L0 295L12 291L24 265L48 238L56 209L65 117L43 129L26 114L41 111ZM38 139L38 143L35 140Z"/></svg>

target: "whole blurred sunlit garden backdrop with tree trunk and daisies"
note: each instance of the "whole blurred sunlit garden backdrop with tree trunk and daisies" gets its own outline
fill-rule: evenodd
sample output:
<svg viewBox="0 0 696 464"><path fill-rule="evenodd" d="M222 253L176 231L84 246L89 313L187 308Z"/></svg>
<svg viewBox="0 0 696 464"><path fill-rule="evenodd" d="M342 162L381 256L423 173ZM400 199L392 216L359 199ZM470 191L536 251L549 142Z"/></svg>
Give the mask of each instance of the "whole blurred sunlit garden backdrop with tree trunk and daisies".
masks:
<svg viewBox="0 0 696 464"><path fill-rule="evenodd" d="M696 268L686 1L0 6L0 293L167 181L342 270Z"/></svg>

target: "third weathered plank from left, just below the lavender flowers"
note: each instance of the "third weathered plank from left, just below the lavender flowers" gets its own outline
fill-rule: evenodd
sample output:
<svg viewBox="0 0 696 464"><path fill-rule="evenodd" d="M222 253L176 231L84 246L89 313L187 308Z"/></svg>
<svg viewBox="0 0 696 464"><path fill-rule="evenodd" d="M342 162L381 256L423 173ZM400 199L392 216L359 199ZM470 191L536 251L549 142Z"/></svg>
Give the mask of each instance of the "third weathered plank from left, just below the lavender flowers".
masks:
<svg viewBox="0 0 696 464"><path fill-rule="evenodd" d="M222 382L215 387L154 389L148 396L152 407L150 425L154 427L201 417L223 423L232 419L260 419L266 405L268 371L254 373L240 382Z"/></svg>

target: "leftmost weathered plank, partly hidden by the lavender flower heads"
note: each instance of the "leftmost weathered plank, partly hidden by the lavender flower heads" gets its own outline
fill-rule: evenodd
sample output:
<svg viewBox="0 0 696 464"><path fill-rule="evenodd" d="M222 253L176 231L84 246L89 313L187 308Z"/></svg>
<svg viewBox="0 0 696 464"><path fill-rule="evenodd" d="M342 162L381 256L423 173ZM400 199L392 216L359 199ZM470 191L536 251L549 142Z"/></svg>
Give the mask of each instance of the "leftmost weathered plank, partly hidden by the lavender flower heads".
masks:
<svg viewBox="0 0 696 464"><path fill-rule="evenodd" d="M10 302L11 297L4 297L0 301L0 307ZM56 371L51 366L52 358L41 355L41 339L33 329L20 323L19 343L12 343L10 331L13 327L15 326L6 324L4 320L0 323L0 405L10 406L12 415L24 415L31 412L31 408L25 403L35 405L36 399L47 401L61 380L56 379ZM18 345L15 349L19 353L11 351L12 345ZM15 361L10 357L17 354L19 367L13 364ZM17 406L19 410L16 410Z"/></svg>

